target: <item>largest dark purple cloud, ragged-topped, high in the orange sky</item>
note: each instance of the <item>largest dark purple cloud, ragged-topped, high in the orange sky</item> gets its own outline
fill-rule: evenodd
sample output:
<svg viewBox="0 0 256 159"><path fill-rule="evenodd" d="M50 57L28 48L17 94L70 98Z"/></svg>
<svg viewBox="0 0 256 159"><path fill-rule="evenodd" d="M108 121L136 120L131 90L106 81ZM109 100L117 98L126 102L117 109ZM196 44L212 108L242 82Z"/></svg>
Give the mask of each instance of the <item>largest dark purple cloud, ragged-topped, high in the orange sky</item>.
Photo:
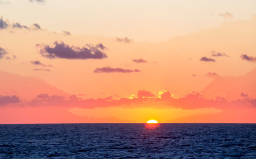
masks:
<svg viewBox="0 0 256 159"><path fill-rule="evenodd" d="M86 47L74 47L64 44L63 42L55 41L53 47L49 45L39 45L41 47L40 54L47 58L67 58L67 59L88 59L88 58L97 58L102 59L106 58L106 54L103 52L105 47L104 45L97 44L96 47L86 44Z"/></svg>

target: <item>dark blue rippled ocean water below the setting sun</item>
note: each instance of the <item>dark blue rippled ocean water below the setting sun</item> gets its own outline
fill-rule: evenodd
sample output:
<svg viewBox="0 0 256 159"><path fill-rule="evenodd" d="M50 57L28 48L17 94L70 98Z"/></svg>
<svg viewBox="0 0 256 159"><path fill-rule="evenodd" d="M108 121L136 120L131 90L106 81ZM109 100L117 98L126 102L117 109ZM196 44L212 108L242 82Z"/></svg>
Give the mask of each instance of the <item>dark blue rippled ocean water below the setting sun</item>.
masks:
<svg viewBox="0 0 256 159"><path fill-rule="evenodd" d="M256 124L2 124L0 158L256 158Z"/></svg>

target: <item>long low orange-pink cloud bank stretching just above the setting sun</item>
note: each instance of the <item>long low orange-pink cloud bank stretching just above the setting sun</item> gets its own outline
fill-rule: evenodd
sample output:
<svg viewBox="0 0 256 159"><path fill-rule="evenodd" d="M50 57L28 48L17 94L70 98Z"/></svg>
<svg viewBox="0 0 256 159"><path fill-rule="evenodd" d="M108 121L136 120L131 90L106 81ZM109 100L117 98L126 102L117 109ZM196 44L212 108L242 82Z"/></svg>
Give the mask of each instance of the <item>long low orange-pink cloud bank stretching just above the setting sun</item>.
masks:
<svg viewBox="0 0 256 159"><path fill-rule="evenodd" d="M187 94L185 97L175 98L170 91L162 90L159 91L158 96L148 91L139 91L138 97L132 94L130 97L121 97L119 99L113 99L113 97L82 99L77 95L64 97L61 95L39 94L31 101L20 103L18 106L63 106L81 108L121 106L129 108L182 108L184 110L193 110L196 108L235 109L256 106L256 99L245 98L228 102L225 98L220 96L214 99L207 99L200 93Z"/></svg>

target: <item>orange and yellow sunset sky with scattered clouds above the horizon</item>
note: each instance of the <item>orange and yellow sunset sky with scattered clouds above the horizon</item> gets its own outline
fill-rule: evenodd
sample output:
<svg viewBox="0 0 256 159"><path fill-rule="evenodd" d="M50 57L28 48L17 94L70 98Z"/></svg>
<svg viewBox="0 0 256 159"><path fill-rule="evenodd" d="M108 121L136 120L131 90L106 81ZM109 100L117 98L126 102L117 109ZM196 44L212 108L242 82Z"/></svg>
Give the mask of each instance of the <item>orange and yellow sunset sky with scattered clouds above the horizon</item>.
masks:
<svg viewBox="0 0 256 159"><path fill-rule="evenodd" d="M256 123L255 8L0 0L0 124Z"/></svg>

